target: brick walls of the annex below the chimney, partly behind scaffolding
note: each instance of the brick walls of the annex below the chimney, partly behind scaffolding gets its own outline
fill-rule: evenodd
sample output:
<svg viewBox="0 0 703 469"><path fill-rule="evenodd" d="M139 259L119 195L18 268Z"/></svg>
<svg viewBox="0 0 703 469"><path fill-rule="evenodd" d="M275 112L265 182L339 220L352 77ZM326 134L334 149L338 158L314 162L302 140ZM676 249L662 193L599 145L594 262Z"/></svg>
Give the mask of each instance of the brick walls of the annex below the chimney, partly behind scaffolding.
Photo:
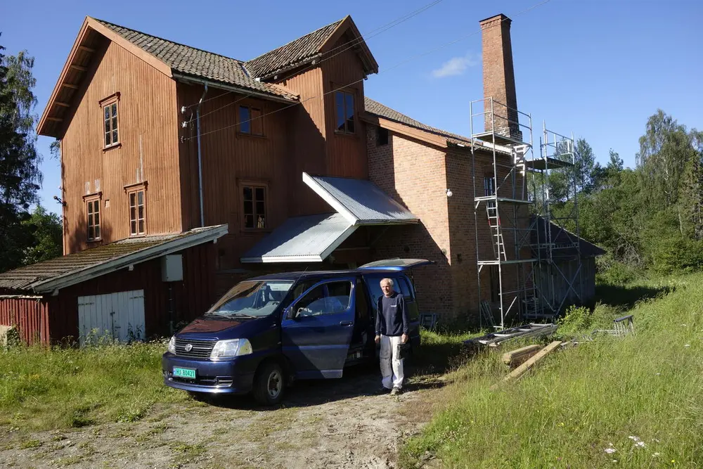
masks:
<svg viewBox="0 0 703 469"><path fill-rule="evenodd" d="M392 131L388 143L378 146L375 133L373 128L367 132L370 180L417 215L421 223L389 229L375 246L374 256L413 257L436 262L435 266L414 271L423 310L443 314L447 319L476 323L479 304L477 247L480 260L495 259L496 255L492 241L494 231L489 227L484 203L477 210L479 229L475 230L473 177L477 193L483 195L484 177L494 174L492 155L477 153L474 173L470 151L434 148ZM498 162L508 164L508 158L499 156ZM508 169L498 169L498 180L503 181ZM517 181L521 181L519 174ZM498 195L523 198L522 184L517 184L515 193L512 186L512 178L498 184ZM451 198L446 195L448 188L452 191ZM500 205L503 226L527 229L527 206L517 210L517 217L512 215L512 207L512 204ZM510 212L510 216L503 217L504 210ZM516 259L513 232L504 229L503 237L508 259ZM520 256L528 257L529 249L523 250ZM522 278L518 269L515 265L503 266L504 291L517 289L517 281ZM482 299L490 301L488 266L482 269L481 285ZM513 297L505 295L504 309ZM494 304L494 308L497 306Z"/></svg>

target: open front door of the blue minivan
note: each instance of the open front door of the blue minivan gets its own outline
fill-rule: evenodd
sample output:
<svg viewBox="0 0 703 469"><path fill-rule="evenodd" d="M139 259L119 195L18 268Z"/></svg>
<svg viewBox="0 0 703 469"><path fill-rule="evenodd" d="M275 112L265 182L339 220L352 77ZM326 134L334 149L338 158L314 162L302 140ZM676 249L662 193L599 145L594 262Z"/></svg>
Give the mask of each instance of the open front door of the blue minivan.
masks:
<svg viewBox="0 0 703 469"><path fill-rule="evenodd" d="M281 321L283 354L296 378L341 378L354 331L354 277L320 281Z"/></svg>

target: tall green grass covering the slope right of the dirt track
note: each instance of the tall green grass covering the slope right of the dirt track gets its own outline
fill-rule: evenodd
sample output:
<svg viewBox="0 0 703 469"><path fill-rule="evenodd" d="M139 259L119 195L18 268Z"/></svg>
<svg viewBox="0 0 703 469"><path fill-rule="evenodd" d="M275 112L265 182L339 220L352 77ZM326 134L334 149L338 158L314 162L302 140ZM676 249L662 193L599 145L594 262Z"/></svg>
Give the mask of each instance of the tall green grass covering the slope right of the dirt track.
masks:
<svg viewBox="0 0 703 469"><path fill-rule="evenodd" d="M600 294L593 314L572 311L558 332L583 338L627 311L636 335L581 341L492 392L508 373L504 350L474 357L434 397L401 467L702 467L703 274Z"/></svg>

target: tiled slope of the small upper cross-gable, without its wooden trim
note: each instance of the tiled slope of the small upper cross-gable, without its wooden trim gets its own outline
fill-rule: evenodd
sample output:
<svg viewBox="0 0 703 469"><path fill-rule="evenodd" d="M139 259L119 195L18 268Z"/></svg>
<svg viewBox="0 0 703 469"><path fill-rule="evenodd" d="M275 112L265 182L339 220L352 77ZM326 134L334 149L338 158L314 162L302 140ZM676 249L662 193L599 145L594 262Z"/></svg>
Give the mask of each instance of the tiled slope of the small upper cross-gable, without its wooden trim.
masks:
<svg viewBox="0 0 703 469"><path fill-rule="evenodd" d="M249 60L245 63L245 66L254 77L268 77L285 68L302 63L319 53L325 41L335 32L342 21L344 20L335 21L331 25L321 27L310 34L305 34L303 37L295 39L295 41L290 41L285 46L266 52L262 56Z"/></svg>

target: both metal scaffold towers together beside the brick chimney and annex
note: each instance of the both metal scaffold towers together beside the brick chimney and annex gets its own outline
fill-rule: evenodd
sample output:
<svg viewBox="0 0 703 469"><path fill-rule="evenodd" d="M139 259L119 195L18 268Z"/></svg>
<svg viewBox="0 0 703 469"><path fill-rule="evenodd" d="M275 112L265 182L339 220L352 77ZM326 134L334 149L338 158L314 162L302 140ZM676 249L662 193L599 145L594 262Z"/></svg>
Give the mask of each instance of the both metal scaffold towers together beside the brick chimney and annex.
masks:
<svg viewBox="0 0 703 469"><path fill-rule="evenodd" d="M583 298L574 137L543 123L535 156L531 115L494 98L471 101L470 114L479 325L503 330L514 319L553 321L567 300ZM555 172L564 175L559 194L550 193ZM555 203L562 205L558 216ZM492 252L479 243L486 236ZM486 269L490 302L482 293Z"/></svg>

